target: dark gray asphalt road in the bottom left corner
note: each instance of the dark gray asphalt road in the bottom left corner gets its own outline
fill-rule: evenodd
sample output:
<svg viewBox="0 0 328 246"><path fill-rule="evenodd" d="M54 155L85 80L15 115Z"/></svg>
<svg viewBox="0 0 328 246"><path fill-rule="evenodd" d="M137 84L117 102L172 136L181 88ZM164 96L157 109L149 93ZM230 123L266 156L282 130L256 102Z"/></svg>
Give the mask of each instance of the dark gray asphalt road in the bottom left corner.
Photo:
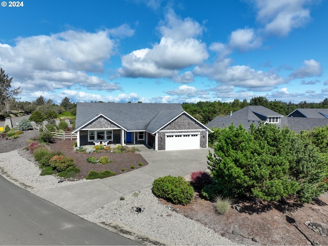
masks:
<svg viewBox="0 0 328 246"><path fill-rule="evenodd" d="M15 186L0 175L0 245L140 245Z"/></svg>

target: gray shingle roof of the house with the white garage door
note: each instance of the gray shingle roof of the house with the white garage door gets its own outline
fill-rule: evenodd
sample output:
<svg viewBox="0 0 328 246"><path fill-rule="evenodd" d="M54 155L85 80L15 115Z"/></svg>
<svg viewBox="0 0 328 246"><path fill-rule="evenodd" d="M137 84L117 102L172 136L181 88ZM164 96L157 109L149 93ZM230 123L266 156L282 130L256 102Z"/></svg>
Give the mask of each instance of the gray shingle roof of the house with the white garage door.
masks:
<svg viewBox="0 0 328 246"><path fill-rule="evenodd" d="M77 103L76 129L103 114L128 131L156 131L183 112L180 104Z"/></svg>

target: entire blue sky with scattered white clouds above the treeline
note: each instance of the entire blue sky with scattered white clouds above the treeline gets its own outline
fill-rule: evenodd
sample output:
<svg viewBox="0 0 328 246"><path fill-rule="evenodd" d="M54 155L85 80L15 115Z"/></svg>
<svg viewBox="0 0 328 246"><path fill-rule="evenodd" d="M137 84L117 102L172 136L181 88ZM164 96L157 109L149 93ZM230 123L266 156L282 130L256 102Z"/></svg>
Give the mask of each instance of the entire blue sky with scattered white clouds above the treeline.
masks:
<svg viewBox="0 0 328 246"><path fill-rule="evenodd" d="M328 97L328 1L6 3L0 67L23 101Z"/></svg>

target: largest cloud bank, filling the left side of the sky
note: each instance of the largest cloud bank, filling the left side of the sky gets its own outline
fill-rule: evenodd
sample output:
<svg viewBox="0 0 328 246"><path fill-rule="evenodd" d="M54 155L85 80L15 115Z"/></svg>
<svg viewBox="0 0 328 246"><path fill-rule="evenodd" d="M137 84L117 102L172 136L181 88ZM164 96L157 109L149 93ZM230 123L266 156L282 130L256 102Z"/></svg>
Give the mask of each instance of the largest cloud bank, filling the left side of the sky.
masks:
<svg viewBox="0 0 328 246"><path fill-rule="evenodd" d="M14 77L13 86L23 96L33 91L53 91L74 85L95 90L121 90L115 83L89 73L104 70L114 54L108 31L65 31L51 35L19 37L15 45L0 44L0 67Z"/></svg>

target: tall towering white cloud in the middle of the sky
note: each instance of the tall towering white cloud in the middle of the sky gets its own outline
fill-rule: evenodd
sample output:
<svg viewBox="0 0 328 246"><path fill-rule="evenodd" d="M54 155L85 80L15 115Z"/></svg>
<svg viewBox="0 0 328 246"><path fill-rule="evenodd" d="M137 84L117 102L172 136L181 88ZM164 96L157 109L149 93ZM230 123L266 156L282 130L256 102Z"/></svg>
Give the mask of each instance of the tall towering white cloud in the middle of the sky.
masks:
<svg viewBox="0 0 328 246"><path fill-rule="evenodd" d="M158 27L159 43L122 57L119 74L125 77L175 77L178 70L208 58L206 44L197 39L203 28L191 18L181 19L169 12Z"/></svg>

